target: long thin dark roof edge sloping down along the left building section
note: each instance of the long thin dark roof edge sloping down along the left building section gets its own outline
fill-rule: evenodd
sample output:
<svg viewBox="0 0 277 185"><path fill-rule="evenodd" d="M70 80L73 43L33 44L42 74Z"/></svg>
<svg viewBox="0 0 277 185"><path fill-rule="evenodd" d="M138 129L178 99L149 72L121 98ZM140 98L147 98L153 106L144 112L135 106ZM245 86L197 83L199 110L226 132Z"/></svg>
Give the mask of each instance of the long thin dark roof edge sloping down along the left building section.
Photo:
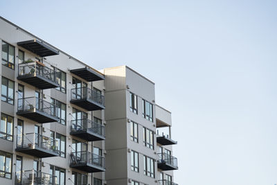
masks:
<svg viewBox="0 0 277 185"><path fill-rule="evenodd" d="M90 67L88 64L85 64L84 62L78 60L77 58L74 58L73 56L69 55L68 53L65 53L64 51L57 49L55 46L53 46L52 44L49 44L48 42L44 41L43 39L33 35L32 33L28 32L27 30L24 30L24 28L21 28L19 26L17 26L16 24L12 23L11 21L8 21L7 19L5 19L4 17L0 16L0 19L2 19L3 21L6 21L8 24L11 24L12 26L15 26L17 29L22 30L24 33L30 35L31 37L34 37L34 39L39 39L39 41L44 42L45 44L47 44L48 46L53 47L54 49L56 49L57 51L60 51L60 53L63 53L64 55L67 55L69 58L72 58L74 60L76 60L77 62L79 62L80 64L83 64L84 67L89 67L90 69L92 69L93 71L96 71L97 73L100 73L102 76L105 76L103 73L101 73L100 71L98 71L97 69L94 69L93 67Z"/></svg>

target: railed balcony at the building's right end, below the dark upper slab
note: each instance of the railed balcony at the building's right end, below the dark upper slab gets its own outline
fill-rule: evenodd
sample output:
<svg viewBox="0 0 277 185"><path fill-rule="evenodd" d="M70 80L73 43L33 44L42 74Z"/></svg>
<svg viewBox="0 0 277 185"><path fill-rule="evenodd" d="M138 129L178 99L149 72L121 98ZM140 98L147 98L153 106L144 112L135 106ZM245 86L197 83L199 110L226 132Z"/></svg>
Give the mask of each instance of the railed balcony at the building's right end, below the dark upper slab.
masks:
<svg viewBox="0 0 277 185"><path fill-rule="evenodd" d="M158 168L161 170L178 170L177 158L166 153L159 153Z"/></svg>

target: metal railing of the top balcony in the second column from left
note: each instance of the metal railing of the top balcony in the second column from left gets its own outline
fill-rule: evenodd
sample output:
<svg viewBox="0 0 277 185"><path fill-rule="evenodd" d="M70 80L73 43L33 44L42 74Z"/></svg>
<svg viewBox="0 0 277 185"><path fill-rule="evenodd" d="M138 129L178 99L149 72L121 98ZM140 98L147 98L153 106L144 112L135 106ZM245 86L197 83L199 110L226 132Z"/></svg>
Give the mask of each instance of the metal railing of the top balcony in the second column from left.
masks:
<svg viewBox="0 0 277 185"><path fill-rule="evenodd" d="M92 100L102 106L105 106L105 96L98 93L97 91L94 91L87 87L71 89L71 100L84 100L84 99Z"/></svg>

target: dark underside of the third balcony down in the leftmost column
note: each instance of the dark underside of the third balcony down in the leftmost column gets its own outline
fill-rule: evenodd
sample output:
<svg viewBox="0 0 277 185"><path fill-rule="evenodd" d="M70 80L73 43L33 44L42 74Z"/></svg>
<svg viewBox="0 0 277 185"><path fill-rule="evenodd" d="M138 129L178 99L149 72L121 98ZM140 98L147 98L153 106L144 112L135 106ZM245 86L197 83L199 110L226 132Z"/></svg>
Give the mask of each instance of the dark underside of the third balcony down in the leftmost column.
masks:
<svg viewBox="0 0 277 185"><path fill-rule="evenodd" d="M15 151L24 153L26 155L35 156L38 158L59 156L59 154L56 152L53 152L51 150L47 150L44 148L39 148L36 146L35 147L27 147L27 148L16 148Z"/></svg>

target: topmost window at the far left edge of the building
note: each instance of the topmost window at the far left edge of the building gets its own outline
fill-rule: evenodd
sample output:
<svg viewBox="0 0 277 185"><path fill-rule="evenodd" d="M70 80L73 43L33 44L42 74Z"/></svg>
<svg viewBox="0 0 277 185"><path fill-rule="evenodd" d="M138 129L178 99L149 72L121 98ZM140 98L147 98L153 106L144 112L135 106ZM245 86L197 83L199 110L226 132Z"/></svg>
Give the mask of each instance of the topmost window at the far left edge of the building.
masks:
<svg viewBox="0 0 277 185"><path fill-rule="evenodd" d="M2 64L15 69L15 46L2 41Z"/></svg>

